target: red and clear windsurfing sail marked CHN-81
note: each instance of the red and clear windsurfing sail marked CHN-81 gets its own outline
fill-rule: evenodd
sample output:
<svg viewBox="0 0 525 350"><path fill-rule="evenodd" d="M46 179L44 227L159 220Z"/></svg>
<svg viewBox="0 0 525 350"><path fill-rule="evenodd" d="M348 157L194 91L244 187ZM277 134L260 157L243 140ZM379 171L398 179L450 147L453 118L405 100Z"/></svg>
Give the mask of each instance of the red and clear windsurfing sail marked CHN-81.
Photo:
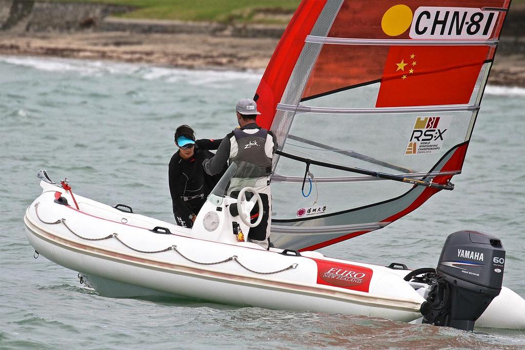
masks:
<svg viewBox="0 0 525 350"><path fill-rule="evenodd" d="M312 250L453 189L508 0L305 0L255 99L279 148L272 242Z"/></svg>

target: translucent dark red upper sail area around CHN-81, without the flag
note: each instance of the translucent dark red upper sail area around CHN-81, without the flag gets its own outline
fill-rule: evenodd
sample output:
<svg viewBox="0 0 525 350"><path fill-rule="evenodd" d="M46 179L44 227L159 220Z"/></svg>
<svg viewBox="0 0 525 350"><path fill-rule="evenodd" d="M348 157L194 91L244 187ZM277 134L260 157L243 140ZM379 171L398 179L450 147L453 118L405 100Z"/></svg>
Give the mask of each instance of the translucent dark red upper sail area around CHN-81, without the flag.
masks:
<svg viewBox="0 0 525 350"><path fill-rule="evenodd" d="M490 8L508 8L510 2L466 0L442 2L443 7L438 7L439 4L436 1L410 0L400 3L385 0L370 6L366 2L345 1L328 36L358 39L498 38L506 13ZM478 13L481 10L477 11L480 8L485 9L481 15ZM385 20L388 14L399 16L403 9L407 16L405 25L389 25ZM471 24L471 19L479 23ZM415 34L411 36L411 32ZM493 48L490 49L485 59L492 59L493 52ZM376 82L382 78L388 56L386 46L325 44L302 99Z"/></svg>

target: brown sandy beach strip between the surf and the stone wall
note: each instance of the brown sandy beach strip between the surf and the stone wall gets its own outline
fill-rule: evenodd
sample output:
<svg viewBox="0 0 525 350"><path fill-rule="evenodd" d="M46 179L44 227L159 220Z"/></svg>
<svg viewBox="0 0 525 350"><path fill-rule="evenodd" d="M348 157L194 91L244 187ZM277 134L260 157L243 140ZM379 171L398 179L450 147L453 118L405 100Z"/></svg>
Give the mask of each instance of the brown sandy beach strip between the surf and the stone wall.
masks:
<svg viewBox="0 0 525 350"><path fill-rule="evenodd" d="M264 69L276 38L169 33L12 33L0 37L0 55L110 59L201 69ZM500 50L489 84L525 87L525 54Z"/></svg>

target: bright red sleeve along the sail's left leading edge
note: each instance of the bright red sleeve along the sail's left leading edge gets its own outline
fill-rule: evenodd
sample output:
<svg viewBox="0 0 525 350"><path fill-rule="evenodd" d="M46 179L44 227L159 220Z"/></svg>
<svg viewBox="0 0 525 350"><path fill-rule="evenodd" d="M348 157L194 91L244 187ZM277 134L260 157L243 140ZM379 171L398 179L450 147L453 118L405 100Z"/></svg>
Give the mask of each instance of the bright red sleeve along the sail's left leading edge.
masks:
<svg viewBox="0 0 525 350"><path fill-rule="evenodd" d="M321 13L326 0L304 0L297 8L272 55L256 91L257 123L270 129L277 104L281 100L306 36Z"/></svg>

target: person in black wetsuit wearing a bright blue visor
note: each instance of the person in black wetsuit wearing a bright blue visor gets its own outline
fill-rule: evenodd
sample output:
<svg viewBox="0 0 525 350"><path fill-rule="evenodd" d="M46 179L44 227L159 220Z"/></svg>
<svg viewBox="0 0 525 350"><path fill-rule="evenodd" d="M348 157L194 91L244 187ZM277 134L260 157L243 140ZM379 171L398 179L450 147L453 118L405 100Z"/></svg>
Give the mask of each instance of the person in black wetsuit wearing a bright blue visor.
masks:
<svg viewBox="0 0 525 350"><path fill-rule="evenodd" d="M176 129L175 145L178 150L171 157L168 174L177 225L193 227L209 192L226 170L225 164L223 172L209 176L202 167L205 159L214 156L209 150L216 150L220 141L222 140L195 140L195 131L187 125Z"/></svg>

